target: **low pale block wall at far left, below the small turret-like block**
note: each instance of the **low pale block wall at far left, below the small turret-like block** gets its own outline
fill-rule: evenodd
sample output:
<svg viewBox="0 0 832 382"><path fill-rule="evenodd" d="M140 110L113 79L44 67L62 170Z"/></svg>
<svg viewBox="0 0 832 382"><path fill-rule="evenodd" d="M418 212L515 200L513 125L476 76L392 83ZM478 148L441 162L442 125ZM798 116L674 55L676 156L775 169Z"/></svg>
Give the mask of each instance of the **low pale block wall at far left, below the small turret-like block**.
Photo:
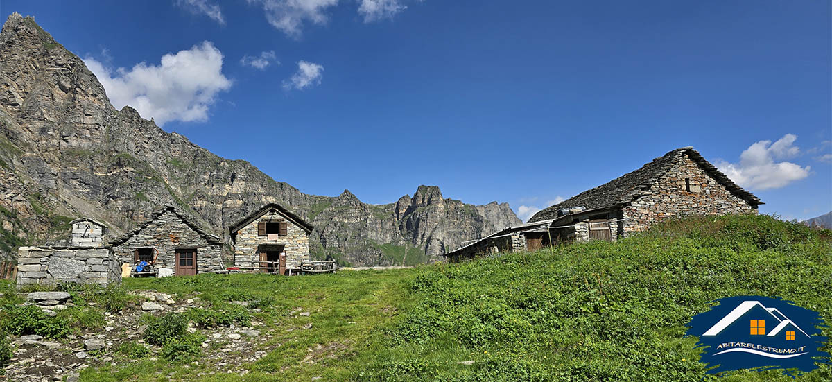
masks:
<svg viewBox="0 0 832 382"><path fill-rule="evenodd" d="M17 285L74 282L121 283L121 268L110 248L32 247L17 250Z"/></svg>

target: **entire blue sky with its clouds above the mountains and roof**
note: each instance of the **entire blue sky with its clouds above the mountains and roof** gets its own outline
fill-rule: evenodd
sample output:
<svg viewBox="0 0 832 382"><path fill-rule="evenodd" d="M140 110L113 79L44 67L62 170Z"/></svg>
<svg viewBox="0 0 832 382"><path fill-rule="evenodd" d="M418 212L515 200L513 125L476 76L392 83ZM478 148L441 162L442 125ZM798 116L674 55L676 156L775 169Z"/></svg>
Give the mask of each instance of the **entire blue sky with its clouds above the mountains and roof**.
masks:
<svg viewBox="0 0 832 382"><path fill-rule="evenodd" d="M136 107L300 191L535 209L694 146L832 210L830 2L3 0Z"/></svg>

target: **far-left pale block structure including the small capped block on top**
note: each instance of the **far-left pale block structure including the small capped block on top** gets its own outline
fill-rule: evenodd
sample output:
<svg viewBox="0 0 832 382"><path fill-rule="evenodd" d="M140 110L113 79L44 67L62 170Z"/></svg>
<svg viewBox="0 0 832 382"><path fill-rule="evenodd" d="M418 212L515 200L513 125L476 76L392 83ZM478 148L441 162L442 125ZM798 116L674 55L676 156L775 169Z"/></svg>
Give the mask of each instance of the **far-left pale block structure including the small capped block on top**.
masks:
<svg viewBox="0 0 832 382"><path fill-rule="evenodd" d="M118 261L104 243L106 226L89 218L71 221L71 226L68 245L17 249L17 285L121 283Z"/></svg>

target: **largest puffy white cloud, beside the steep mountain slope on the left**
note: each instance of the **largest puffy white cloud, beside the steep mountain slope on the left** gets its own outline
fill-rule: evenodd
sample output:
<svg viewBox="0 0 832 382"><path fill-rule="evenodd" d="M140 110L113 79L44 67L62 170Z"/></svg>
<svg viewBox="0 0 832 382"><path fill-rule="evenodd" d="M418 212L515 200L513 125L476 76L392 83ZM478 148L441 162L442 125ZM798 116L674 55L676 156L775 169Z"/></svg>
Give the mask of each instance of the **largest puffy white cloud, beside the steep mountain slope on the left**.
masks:
<svg viewBox="0 0 832 382"><path fill-rule="evenodd" d="M84 62L98 77L117 109L131 106L159 126L171 121L206 121L218 92L231 81L222 74L222 53L211 42L168 53L160 65L139 62L131 69L112 70L95 58Z"/></svg>

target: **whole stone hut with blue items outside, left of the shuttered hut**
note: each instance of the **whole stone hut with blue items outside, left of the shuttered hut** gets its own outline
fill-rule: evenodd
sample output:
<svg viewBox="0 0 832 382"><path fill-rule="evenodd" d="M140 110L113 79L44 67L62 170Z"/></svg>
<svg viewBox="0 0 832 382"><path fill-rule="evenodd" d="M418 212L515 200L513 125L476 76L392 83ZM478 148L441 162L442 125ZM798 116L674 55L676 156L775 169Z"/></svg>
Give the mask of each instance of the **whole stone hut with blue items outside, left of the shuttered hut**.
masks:
<svg viewBox="0 0 832 382"><path fill-rule="evenodd" d="M166 205L133 231L111 242L112 251L122 263L146 261L155 275L196 275L225 270L222 241L197 225L178 207Z"/></svg>

